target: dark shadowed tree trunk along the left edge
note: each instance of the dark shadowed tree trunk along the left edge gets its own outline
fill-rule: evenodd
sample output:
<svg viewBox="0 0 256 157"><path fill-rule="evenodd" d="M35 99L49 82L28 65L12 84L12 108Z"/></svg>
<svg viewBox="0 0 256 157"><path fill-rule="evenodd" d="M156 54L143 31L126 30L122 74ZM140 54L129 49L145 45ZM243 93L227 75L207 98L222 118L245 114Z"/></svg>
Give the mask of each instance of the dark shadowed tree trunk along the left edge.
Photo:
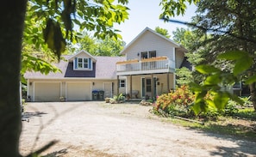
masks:
<svg viewBox="0 0 256 157"><path fill-rule="evenodd" d="M16 157L22 130L19 74L27 0L0 5L0 156Z"/></svg>

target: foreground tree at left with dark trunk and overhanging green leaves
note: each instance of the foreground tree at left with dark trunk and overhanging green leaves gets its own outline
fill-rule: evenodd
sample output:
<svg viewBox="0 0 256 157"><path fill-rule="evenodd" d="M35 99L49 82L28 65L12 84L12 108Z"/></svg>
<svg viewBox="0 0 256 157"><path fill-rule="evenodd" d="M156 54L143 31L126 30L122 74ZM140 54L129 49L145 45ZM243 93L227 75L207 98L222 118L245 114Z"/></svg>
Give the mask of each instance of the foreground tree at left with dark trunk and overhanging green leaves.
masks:
<svg viewBox="0 0 256 157"><path fill-rule="evenodd" d="M16 157L19 154L19 137L22 130L19 100L22 40L42 46L45 39L48 48L58 57L65 50L66 39L75 39L72 26L94 31L104 38L106 34L120 37L113 28L114 22L128 18L127 0L78 1L78 0L14 0L2 3L0 26L0 156ZM28 14L26 9L28 6ZM31 7L30 7L31 6ZM73 16L72 16L73 15ZM78 21L79 19L79 21ZM30 27L36 21L36 27ZM24 28L25 26L25 28ZM47 27L46 27L47 26ZM38 29L36 29L38 28ZM24 32L23 32L24 31ZM66 33L64 35L64 33Z"/></svg>

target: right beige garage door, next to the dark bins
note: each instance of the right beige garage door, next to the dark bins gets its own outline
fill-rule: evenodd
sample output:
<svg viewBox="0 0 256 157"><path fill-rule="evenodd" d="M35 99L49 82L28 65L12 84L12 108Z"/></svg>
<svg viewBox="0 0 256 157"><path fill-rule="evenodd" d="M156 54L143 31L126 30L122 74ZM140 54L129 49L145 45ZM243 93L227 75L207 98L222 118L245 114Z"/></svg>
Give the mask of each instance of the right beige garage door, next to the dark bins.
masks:
<svg viewBox="0 0 256 157"><path fill-rule="evenodd" d="M91 100L91 82L66 82L66 100Z"/></svg>

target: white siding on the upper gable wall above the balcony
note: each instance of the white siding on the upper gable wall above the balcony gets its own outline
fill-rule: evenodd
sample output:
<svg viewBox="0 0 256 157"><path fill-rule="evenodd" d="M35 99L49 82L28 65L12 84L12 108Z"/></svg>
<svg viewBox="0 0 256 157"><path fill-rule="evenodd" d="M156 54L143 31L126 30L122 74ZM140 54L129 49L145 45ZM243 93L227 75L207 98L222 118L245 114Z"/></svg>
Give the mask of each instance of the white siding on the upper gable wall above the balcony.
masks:
<svg viewBox="0 0 256 157"><path fill-rule="evenodd" d="M160 38L158 35L147 31L140 36L132 45L126 49L127 59L140 59L138 53L141 51L156 51L157 57L166 56L173 60L173 47L175 45L166 39Z"/></svg>

